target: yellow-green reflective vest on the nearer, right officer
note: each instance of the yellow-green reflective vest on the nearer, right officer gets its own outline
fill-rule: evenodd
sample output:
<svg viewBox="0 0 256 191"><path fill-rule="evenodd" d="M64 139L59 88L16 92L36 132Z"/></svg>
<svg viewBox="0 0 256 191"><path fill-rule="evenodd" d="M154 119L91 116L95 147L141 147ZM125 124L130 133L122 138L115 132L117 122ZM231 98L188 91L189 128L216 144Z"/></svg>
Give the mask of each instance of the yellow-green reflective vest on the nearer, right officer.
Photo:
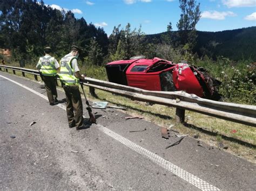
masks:
<svg viewBox="0 0 256 191"><path fill-rule="evenodd" d="M75 56L66 55L60 60L59 78L66 86L79 86L79 79L74 74L74 69L71 67L71 61L77 59Z"/></svg>

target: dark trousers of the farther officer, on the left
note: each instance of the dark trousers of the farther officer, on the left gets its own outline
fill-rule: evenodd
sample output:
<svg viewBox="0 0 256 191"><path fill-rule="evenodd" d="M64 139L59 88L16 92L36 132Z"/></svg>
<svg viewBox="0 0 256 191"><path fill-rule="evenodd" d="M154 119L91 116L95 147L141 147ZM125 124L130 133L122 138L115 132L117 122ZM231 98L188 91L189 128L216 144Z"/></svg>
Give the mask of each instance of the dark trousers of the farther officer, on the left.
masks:
<svg viewBox="0 0 256 191"><path fill-rule="evenodd" d="M49 103L53 103L53 95L55 95L55 97L58 97L57 90L56 90L56 77L43 75L42 80L44 81L44 84L45 84L45 89L46 89Z"/></svg>

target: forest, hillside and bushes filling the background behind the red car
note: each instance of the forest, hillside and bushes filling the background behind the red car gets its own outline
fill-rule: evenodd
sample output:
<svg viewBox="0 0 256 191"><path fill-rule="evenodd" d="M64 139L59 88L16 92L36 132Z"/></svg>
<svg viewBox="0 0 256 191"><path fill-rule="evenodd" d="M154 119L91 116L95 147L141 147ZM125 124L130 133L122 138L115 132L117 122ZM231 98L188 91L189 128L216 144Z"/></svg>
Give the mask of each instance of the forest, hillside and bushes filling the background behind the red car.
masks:
<svg viewBox="0 0 256 191"><path fill-rule="evenodd" d="M43 48L50 46L58 60L70 51L71 45L83 49L80 67L91 77L106 80L107 62L145 55L173 62L187 60L191 65L205 67L223 82L220 88L226 101L255 104L256 27L221 32L196 30L200 19L199 4L188 13L186 2L180 0L181 17L178 31L172 23L159 34L145 34L142 26L133 29L114 26L108 37L104 29L76 18L71 11L45 6L43 1L2 0L0 3L0 48L9 49L10 57L0 59L12 65L24 60L35 67ZM194 22L186 23L186 17ZM90 73L91 71L91 73Z"/></svg>

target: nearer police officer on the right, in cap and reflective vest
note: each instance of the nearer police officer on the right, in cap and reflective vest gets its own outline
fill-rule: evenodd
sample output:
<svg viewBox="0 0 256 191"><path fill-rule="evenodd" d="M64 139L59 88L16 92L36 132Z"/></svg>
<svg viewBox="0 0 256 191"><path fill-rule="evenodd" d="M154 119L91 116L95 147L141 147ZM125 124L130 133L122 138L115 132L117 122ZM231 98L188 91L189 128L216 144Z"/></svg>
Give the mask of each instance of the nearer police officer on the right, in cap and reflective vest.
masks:
<svg viewBox="0 0 256 191"><path fill-rule="evenodd" d="M83 128L83 104L79 91L79 79L84 75L79 73L77 59L80 48L71 47L71 52L60 60L59 77L66 94L66 114L68 115L69 128Z"/></svg>

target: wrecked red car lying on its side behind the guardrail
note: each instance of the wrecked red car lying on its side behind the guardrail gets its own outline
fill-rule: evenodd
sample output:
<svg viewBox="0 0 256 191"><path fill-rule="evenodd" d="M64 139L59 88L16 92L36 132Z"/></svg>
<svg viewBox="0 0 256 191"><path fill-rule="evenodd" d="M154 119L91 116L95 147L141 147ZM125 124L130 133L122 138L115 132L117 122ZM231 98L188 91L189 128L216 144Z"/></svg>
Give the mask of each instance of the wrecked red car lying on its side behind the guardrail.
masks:
<svg viewBox="0 0 256 191"><path fill-rule="evenodd" d="M154 91L186 91L199 97L220 100L221 82L207 74L204 68L187 63L173 63L160 58L134 56L105 65L110 82Z"/></svg>

